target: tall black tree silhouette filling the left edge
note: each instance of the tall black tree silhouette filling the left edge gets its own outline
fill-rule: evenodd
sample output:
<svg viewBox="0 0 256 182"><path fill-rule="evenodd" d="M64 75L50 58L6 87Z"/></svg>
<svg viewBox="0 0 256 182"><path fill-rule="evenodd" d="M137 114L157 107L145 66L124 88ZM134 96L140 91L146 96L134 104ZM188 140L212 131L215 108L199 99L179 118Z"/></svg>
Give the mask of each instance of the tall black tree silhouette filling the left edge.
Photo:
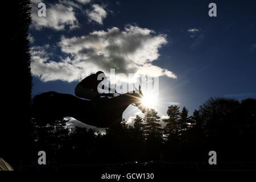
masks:
<svg viewBox="0 0 256 182"><path fill-rule="evenodd" d="M31 72L28 28L31 23L30 1L1 3L1 63L3 118L1 153L15 169L29 163L31 155Z"/></svg>

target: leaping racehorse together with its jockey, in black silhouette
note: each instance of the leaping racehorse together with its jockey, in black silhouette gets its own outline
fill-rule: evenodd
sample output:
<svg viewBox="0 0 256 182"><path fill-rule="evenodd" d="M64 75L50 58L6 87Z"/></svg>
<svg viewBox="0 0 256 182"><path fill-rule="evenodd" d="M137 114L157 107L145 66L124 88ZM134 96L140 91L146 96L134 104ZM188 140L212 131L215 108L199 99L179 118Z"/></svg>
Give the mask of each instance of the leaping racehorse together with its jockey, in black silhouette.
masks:
<svg viewBox="0 0 256 182"><path fill-rule="evenodd" d="M104 80L104 77L98 80L100 74L104 73L99 71L84 78L75 88L77 97L53 91L35 96L32 100L32 117L44 121L73 117L87 125L115 127L121 126L123 111L129 105L137 106L143 113L147 111L147 107L142 105L141 86L139 90L135 89L132 93L120 94L117 97L114 97L114 93L98 93L98 84ZM104 89L111 90L106 86Z"/></svg>

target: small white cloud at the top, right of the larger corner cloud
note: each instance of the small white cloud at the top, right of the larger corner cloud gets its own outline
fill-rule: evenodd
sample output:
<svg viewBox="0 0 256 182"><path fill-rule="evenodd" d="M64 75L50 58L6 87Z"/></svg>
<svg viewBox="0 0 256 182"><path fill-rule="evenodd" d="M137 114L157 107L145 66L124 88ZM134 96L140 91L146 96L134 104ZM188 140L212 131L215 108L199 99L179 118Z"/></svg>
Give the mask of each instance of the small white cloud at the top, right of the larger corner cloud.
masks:
<svg viewBox="0 0 256 182"><path fill-rule="evenodd" d="M89 18L89 22L97 22L99 24L103 24L103 19L106 18L106 11L104 10L103 7L101 7L100 5L92 5L93 10L86 10L86 14Z"/></svg>

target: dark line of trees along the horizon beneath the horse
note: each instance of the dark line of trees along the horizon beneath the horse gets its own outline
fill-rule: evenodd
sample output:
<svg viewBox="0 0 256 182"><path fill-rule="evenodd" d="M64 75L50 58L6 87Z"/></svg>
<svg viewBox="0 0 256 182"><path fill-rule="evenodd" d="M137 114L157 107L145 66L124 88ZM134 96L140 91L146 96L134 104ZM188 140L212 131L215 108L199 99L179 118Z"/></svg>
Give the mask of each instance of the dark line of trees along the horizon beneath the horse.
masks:
<svg viewBox="0 0 256 182"><path fill-rule="evenodd" d="M32 120L34 150L44 150L51 164L105 164L130 161L208 162L216 151L222 162L255 162L256 100L210 98L188 115L186 107L168 106L164 127L156 110L123 133L66 126L67 120ZM36 160L36 158L35 158Z"/></svg>

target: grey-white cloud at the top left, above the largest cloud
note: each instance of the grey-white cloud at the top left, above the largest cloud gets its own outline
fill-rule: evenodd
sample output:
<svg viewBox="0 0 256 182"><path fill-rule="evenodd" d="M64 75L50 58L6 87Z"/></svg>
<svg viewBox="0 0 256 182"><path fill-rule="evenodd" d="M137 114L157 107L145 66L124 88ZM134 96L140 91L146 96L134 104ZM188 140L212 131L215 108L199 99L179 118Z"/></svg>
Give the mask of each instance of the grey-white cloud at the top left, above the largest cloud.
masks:
<svg viewBox="0 0 256 182"><path fill-rule="evenodd" d="M38 16L38 0L32 0L32 27L36 30L42 30L43 27L52 28L53 30L64 30L65 27L70 29L79 27L73 10L75 3L67 3L67 1L59 1L56 4L46 4L46 17Z"/></svg>

